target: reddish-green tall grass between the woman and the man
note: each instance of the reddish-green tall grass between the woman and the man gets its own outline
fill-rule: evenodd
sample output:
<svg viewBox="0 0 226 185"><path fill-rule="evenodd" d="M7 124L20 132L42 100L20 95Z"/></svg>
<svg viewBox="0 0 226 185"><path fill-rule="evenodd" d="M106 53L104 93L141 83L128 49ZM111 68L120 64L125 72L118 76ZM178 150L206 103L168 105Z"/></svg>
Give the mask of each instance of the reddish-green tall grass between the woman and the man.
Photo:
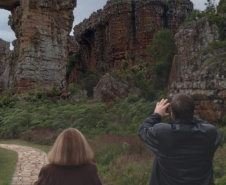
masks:
<svg viewBox="0 0 226 185"><path fill-rule="evenodd" d="M105 185L149 183L153 153L135 136L106 135L91 142Z"/></svg>

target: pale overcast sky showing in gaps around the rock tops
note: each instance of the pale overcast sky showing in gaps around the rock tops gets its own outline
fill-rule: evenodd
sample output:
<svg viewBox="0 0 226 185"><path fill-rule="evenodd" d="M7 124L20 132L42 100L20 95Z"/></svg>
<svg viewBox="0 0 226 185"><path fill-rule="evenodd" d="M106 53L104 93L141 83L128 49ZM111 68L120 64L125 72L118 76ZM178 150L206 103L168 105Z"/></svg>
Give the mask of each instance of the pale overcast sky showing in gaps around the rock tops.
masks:
<svg viewBox="0 0 226 185"><path fill-rule="evenodd" d="M207 0L191 0L195 9L204 10ZM80 23L83 19L89 18L92 12L102 9L107 0L77 0L77 7L74 9L74 25ZM215 0L216 4L219 0ZM15 34L8 26L9 11L0 9L0 38L12 42L15 40Z"/></svg>

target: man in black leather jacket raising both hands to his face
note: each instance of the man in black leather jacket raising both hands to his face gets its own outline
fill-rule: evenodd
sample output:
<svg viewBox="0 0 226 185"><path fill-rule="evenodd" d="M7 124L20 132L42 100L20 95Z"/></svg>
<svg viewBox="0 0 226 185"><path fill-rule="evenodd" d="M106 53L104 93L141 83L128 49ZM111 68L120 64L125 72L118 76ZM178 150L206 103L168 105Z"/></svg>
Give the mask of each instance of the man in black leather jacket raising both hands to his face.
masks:
<svg viewBox="0 0 226 185"><path fill-rule="evenodd" d="M194 100L183 93L157 103L138 130L155 153L150 185L214 185L212 160L222 140L218 129L194 116ZM171 107L174 121L160 123Z"/></svg>

